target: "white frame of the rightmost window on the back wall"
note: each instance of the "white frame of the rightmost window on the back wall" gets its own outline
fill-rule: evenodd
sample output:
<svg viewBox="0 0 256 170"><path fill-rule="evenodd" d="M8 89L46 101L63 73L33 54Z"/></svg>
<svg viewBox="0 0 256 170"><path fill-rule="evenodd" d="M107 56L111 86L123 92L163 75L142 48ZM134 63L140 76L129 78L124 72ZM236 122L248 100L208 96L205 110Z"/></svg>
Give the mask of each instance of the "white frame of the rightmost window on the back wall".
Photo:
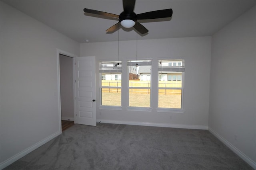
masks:
<svg viewBox="0 0 256 170"><path fill-rule="evenodd" d="M159 96L157 95L157 109L156 111L158 112L174 112L174 113L184 113L184 102L183 102L183 99L184 99L184 75L185 75L185 60L184 59L158 59L158 64L160 61L169 61L170 62L178 62L178 61L182 61L182 66L165 66L165 67L162 67L162 68L159 68L159 65L158 65L158 70L157 70L157 75L159 76L159 71L173 71L173 72L182 72L182 76L181 76L181 80L182 80L182 87L181 88L161 88L159 87L159 81L157 83L157 87L158 87L158 92L159 92L159 89L178 89L178 90L182 90L182 94L181 94L181 108L162 108L162 107L158 107L158 98ZM176 77L177 78L177 77ZM177 81L177 80L176 80Z"/></svg>

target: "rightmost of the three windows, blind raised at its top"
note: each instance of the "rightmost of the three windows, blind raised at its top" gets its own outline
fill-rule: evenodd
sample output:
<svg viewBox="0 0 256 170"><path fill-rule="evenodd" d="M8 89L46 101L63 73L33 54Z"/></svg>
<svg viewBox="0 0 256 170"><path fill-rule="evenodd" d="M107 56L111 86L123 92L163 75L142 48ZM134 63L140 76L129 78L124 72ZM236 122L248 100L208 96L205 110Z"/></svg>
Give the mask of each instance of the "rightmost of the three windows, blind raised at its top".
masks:
<svg viewBox="0 0 256 170"><path fill-rule="evenodd" d="M167 63L173 64L170 66ZM163 78L159 78L158 81L158 108L182 109L184 71L184 60L158 61L158 77L163 77L163 75L168 77L168 81Z"/></svg>

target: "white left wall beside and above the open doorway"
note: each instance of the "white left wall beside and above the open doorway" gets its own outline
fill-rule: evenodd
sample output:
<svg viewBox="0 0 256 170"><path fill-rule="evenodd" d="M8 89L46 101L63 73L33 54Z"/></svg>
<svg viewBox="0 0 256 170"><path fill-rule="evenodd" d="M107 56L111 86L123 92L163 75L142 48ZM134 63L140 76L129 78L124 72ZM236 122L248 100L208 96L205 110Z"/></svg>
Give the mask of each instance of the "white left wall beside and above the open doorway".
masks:
<svg viewBox="0 0 256 170"><path fill-rule="evenodd" d="M79 44L1 1L1 168L61 133L56 49Z"/></svg>

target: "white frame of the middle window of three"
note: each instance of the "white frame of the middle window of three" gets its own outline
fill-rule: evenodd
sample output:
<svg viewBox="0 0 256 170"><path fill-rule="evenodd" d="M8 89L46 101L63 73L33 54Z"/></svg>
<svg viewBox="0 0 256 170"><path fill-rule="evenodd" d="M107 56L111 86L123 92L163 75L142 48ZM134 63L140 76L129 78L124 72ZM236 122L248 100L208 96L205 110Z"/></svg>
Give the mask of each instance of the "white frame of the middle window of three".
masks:
<svg viewBox="0 0 256 170"><path fill-rule="evenodd" d="M150 69L150 87L130 87L129 86L129 68L128 66L151 66ZM129 111L152 111L152 60L127 61L127 110ZM158 80L158 78L157 78ZM130 89L149 89L150 90L150 107L129 106Z"/></svg>

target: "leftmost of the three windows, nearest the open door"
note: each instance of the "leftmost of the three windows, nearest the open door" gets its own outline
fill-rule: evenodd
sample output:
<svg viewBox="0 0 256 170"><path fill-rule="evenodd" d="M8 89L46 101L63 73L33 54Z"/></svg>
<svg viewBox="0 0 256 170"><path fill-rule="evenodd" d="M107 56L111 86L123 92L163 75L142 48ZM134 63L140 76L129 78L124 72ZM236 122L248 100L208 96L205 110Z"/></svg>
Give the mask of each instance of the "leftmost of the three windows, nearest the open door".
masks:
<svg viewBox="0 0 256 170"><path fill-rule="evenodd" d="M121 106L122 62L99 62L101 106Z"/></svg>

